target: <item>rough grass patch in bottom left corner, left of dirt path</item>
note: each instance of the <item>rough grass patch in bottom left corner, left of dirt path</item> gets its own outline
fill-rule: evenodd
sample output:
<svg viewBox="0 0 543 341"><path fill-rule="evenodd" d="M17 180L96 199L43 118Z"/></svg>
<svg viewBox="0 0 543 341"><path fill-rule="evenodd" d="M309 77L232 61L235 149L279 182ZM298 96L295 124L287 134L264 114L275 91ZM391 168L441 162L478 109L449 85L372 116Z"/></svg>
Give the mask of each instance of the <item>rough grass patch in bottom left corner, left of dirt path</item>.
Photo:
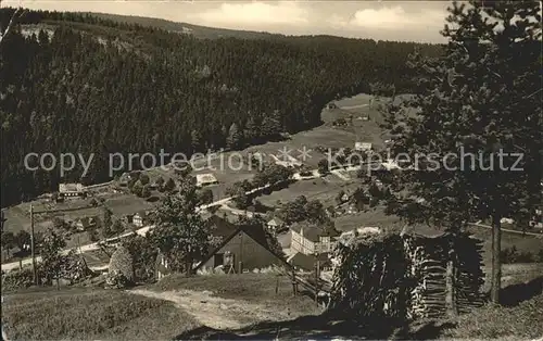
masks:
<svg viewBox="0 0 543 341"><path fill-rule="evenodd" d="M5 296L2 323L13 340L165 340L199 326L171 302L79 289Z"/></svg>

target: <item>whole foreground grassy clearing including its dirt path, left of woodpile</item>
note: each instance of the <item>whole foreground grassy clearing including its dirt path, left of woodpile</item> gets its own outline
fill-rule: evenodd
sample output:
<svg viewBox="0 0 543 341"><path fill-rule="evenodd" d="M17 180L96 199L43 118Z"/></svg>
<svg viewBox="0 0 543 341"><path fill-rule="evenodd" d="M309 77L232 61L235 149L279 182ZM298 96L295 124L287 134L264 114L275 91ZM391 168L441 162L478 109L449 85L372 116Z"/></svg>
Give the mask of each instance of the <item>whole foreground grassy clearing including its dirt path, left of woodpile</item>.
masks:
<svg viewBox="0 0 543 341"><path fill-rule="evenodd" d="M161 299L137 294L142 291ZM181 304L168 302L176 294ZM266 273L173 275L134 291L28 289L4 296L2 313L8 337L15 340L172 340L204 328L194 317L230 316L252 326L316 316L321 310L307 296L293 296L288 277Z"/></svg>

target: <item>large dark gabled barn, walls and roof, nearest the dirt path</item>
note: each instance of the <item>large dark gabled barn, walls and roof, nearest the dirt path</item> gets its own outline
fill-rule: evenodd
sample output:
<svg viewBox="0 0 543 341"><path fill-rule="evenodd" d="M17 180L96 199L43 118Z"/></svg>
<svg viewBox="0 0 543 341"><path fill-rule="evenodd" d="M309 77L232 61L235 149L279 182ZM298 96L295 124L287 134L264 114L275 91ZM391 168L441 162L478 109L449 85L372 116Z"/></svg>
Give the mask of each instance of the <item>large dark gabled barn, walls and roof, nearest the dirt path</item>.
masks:
<svg viewBox="0 0 543 341"><path fill-rule="evenodd" d="M222 238L222 241L207 252L194 271L219 270L239 274L273 265L290 268L282 256L272 250L262 227L238 226L217 215L212 215L206 219L206 224L210 224L211 233Z"/></svg>

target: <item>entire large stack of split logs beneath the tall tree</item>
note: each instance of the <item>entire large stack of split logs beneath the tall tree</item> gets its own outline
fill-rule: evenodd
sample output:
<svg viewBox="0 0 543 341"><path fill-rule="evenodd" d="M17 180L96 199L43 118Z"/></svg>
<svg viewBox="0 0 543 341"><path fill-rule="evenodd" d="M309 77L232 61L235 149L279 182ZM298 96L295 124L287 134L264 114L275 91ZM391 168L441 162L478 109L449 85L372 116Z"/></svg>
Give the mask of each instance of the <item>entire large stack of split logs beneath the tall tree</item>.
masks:
<svg viewBox="0 0 543 341"><path fill-rule="evenodd" d="M330 308L351 316L440 318L483 303L481 244L468 235L353 236L334 256Z"/></svg>

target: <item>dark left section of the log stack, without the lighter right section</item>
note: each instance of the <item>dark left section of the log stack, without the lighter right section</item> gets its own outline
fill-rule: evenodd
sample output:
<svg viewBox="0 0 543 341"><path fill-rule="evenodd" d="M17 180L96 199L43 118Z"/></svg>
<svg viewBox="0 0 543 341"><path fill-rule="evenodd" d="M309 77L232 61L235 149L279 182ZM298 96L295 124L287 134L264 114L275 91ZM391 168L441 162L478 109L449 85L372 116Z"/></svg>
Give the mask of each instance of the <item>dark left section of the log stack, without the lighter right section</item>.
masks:
<svg viewBox="0 0 543 341"><path fill-rule="evenodd" d="M405 257L397 235L366 233L340 242L329 308L349 317L405 316Z"/></svg>

